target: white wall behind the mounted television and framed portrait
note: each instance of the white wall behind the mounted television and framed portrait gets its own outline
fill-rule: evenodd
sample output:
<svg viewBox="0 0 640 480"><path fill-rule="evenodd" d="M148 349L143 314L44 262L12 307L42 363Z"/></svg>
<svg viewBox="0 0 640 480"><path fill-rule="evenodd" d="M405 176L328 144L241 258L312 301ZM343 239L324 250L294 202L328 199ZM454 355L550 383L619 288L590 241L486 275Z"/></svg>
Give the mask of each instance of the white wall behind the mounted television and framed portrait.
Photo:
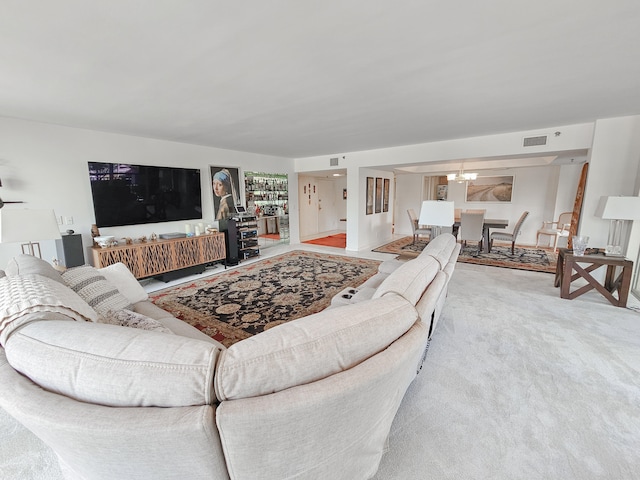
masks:
<svg viewBox="0 0 640 480"><path fill-rule="evenodd" d="M213 220L209 165L228 165L243 170L274 171L289 174L289 188L297 190L291 159L231 150L221 150L177 142L117 135L36 122L0 118L0 179L3 200L23 200L24 205L4 208L52 208L57 216L73 217L73 229L82 234L85 247L91 245L91 225L95 223L87 162L120 162L143 165L200 168L203 221ZM289 200L291 243L298 238L298 204ZM194 223L197 220L193 221ZM121 237L149 236L151 233L184 231L186 222L167 222L128 227L111 227L101 234ZM55 242L41 242L43 258L56 257ZM87 248L85 248L87 250ZM18 244L0 245L0 268L15 254ZM85 258L90 260L88 251Z"/></svg>

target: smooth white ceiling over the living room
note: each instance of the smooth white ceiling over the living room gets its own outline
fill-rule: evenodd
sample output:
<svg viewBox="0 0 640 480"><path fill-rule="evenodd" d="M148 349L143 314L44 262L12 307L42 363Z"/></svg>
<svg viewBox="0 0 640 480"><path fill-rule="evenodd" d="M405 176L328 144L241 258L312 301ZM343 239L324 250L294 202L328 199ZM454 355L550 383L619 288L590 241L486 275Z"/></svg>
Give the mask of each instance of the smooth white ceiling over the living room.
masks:
<svg viewBox="0 0 640 480"><path fill-rule="evenodd" d="M640 113L638 0L2 0L0 115L285 157Z"/></svg>

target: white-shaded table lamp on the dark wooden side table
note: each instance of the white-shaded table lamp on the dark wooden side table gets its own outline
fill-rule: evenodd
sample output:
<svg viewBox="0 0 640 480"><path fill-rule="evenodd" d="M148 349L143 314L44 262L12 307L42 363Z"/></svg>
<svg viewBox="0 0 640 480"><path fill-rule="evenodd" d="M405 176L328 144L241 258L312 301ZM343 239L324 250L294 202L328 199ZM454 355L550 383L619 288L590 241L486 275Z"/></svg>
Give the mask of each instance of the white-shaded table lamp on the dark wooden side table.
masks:
<svg viewBox="0 0 640 480"><path fill-rule="evenodd" d="M600 197L596 217L610 220L609 237L604 254L624 257L623 247L626 246L629 220L640 219L640 197Z"/></svg>

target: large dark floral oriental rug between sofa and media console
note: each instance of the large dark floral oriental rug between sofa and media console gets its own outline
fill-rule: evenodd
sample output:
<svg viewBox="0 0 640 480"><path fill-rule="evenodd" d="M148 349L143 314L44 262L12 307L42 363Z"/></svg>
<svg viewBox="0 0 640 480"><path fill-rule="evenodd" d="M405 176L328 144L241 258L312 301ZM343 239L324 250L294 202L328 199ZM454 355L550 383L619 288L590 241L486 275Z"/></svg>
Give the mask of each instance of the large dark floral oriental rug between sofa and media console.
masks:
<svg viewBox="0 0 640 480"><path fill-rule="evenodd" d="M229 347L320 312L331 297L378 271L380 262L293 251L154 292L150 300Z"/></svg>

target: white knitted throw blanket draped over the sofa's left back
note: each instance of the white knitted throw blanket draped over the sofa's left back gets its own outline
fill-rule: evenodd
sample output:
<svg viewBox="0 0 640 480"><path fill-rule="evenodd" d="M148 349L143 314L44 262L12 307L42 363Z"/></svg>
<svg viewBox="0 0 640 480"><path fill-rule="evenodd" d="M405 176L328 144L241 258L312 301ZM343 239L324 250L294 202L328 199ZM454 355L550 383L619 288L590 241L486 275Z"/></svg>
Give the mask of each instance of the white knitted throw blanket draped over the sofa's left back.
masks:
<svg viewBox="0 0 640 480"><path fill-rule="evenodd" d="M0 278L0 344L16 328L35 320L32 313L58 313L76 321L92 321L98 314L73 290L41 275Z"/></svg>

